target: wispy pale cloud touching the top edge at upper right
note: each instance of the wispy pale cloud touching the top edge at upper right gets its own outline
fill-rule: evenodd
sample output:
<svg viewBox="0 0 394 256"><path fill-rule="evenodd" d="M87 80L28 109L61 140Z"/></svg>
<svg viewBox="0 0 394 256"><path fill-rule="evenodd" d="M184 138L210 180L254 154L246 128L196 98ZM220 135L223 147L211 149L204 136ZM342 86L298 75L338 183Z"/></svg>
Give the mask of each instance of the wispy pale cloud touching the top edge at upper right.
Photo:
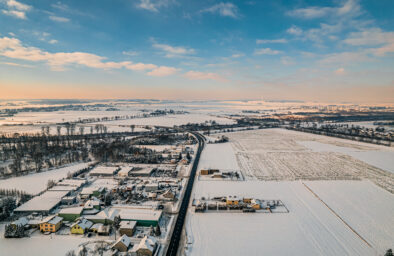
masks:
<svg viewBox="0 0 394 256"><path fill-rule="evenodd" d="M294 9L287 12L287 15L302 18L302 19L315 19L326 16L345 16L357 15L360 11L360 5L357 0L343 1L343 4L338 7L320 7L312 6L307 8Z"/></svg>

